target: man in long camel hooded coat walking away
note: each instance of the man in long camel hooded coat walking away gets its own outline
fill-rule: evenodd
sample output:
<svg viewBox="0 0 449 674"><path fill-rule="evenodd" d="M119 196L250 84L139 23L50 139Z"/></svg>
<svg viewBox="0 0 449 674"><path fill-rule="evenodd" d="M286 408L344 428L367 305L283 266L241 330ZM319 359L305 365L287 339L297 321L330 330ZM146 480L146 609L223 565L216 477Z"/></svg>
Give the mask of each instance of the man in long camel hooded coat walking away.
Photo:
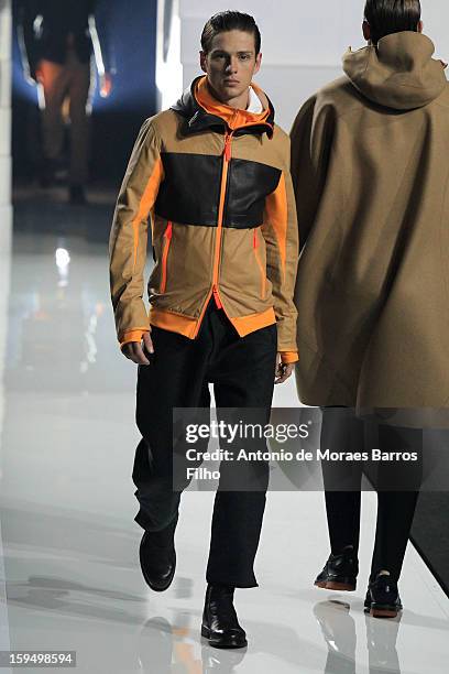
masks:
<svg viewBox="0 0 449 674"><path fill-rule="evenodd" d="M449 91L445 64L421 34L418 0L368 0L364 15L368 46L344 55L346 76L305 104L292 131L302 238L297 385L304 403L327 407L325 447L360 452L368 422L359 413L380 409L380 448L419 456L421 412L447 406L449 396L441 252ZM392 409L407 411L401 415L410 423L395 423ZM415 472L404 466L379 491L365 601L373 616L401 609L397 581L420 479L418 465ZM325 465L331 555L316 585L354 589L360 463L348 466L347 489L331 489L332 476Z"/></svg>

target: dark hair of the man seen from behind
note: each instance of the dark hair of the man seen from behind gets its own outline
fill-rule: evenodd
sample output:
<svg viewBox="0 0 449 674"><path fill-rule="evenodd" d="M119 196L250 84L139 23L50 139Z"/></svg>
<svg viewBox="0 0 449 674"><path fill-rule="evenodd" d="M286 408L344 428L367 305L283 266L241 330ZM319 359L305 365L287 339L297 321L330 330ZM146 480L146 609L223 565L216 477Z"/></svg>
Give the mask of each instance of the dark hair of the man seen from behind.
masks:
<svg viewBox="0 0 449 674"><path fill-rule="evenodd" d="M371 28L371 41L402 31L418 30L421 15L419 0L366 0L365 20Z"/></svg>

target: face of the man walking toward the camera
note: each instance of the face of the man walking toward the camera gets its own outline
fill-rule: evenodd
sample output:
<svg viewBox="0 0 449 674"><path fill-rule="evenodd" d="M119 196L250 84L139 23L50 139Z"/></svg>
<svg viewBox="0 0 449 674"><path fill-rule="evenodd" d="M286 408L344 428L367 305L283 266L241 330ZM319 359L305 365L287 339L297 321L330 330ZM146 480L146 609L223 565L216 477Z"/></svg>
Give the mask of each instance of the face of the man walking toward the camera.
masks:
<svg viewBox="0 0 449 674"><path fill-rule="evenodd" d="M200 64L217 98L223 102L248 91L253 75L261 67L262 54L255 55L254 35L227 31L213 37L210 51L200 52Z"/></svg>

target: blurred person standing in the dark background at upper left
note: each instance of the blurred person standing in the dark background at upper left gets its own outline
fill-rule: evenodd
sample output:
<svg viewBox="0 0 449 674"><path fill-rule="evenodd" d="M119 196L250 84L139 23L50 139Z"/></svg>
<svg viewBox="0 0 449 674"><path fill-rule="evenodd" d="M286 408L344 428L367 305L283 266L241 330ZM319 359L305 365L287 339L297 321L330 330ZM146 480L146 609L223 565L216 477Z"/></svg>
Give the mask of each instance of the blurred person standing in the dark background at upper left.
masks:
<svg viewBox="0 0 449 674"><path fill-rule="evenodd" d="M100 40L101 37L101 40ZM112 88L105 17L96 0L22 0L19 24L24 75L40 89L43 161L41 184L52 184L64 146L63 106L70 119L69 198L86 203L89 117L95 68L100 95Z"/></svg>

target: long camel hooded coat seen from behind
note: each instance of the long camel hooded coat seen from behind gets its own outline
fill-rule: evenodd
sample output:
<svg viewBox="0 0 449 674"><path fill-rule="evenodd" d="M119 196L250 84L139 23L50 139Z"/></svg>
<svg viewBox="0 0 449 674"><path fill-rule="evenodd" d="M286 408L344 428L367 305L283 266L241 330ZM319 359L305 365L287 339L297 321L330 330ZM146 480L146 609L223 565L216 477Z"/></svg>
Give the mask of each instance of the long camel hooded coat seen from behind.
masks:
<svg viewBox="0 0 449 674"><path fill-rule="evenodd" d="M449 407L449 87L414 32L349 51L302 108L299 398Z"/></svg>

